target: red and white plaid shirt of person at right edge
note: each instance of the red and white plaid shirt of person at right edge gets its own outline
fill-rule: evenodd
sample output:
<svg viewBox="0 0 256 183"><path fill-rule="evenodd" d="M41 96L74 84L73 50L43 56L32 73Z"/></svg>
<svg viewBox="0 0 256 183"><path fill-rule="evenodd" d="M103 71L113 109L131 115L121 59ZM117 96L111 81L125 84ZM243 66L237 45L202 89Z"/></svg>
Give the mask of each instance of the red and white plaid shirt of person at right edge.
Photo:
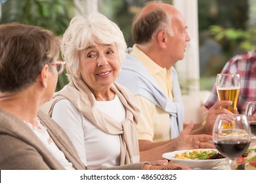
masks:
<svg viewBox="0 0 256 183"><path fill-rule="evenodd" d="M241 88L238 97L238 112L244 114L248 101L256 101L256 50L234 56L223 67L223 74L239 74ZM216 84L205 103L206 108L212 107L218 100Z"/></svg>

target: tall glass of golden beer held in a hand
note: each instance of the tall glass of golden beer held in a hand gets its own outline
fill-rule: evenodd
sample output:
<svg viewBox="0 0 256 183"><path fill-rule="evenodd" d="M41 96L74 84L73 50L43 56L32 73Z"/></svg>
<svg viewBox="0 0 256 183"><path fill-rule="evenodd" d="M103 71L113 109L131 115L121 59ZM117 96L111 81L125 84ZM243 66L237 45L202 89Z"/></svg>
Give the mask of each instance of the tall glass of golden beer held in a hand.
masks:
<svg viewBox="0 0 256 183"><path fill-rule="evenodd" d="M219 101L233 102L232 105L223 106L222 108L226 108L235 114L240 92L240 75L218 74L216 86Z"/></svg>

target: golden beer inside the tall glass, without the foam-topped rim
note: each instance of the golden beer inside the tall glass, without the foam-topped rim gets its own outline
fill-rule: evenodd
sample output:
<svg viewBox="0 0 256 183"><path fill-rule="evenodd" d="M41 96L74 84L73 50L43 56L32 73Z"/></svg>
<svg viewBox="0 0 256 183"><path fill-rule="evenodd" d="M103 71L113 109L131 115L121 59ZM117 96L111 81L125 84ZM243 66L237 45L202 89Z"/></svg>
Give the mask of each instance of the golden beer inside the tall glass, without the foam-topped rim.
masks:
<svg viewBox="0 0 256 183"><path fill-rule="evenodd" d="M232 105L223 106L221 108L226 108L231 112L236 112L236 105L238 103L238 95L240 92L240 87L226 87L226 88L217 88L217 93L219 101L232 101Z"/></svg>

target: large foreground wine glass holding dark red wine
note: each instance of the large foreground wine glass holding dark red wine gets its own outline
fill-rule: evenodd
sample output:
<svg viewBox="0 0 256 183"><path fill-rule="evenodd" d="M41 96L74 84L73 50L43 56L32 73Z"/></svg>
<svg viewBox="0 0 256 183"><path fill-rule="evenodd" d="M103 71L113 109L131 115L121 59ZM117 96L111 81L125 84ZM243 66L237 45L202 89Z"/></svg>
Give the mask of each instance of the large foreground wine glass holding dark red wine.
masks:
<svg viewBox="0 0 256 183"><path fill-rule="evenodd" d="M213 142L232 169L234 159L242 156L251 142L251 130L246 116L218 115L213 127Z"/></svg>

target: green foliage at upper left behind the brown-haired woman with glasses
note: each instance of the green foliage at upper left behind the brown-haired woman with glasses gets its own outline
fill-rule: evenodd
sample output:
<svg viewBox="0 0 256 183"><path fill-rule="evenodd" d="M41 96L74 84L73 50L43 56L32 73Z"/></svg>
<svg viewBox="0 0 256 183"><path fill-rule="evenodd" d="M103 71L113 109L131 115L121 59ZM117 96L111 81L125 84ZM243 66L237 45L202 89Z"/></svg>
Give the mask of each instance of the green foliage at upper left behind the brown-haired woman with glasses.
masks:
<svg viewBox="0 0 256 183"><path fill-rule="evenodd" d="M6 0L1 5L0 24L20 22L37 25L62 37L74 16L74 7L73 0ZM60 59L62 59L61 56ZM60 90L67 82L66 75L64 73L60 75L56 91Z"/></svg>

